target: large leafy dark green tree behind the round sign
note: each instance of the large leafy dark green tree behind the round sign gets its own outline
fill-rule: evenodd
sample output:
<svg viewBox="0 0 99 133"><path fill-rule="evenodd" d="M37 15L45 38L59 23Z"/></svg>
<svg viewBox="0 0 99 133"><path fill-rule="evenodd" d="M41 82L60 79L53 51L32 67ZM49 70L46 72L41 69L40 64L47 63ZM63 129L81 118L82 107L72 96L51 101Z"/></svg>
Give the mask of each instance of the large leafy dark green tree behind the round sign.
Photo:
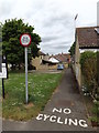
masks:
<svg viewBox="0 0 99 133"><path fill-rule="evenodd" d="M6 20L2 27L2 50L3 54L8 58L8 63L12 64L12 68L24 63L24 48L20 45L20 37L22 33L30 33L32 38L31 53L29 54L29 63L33 58L37 57L41 37L33 33L34 27L23 23L22 19Z"/></svg>

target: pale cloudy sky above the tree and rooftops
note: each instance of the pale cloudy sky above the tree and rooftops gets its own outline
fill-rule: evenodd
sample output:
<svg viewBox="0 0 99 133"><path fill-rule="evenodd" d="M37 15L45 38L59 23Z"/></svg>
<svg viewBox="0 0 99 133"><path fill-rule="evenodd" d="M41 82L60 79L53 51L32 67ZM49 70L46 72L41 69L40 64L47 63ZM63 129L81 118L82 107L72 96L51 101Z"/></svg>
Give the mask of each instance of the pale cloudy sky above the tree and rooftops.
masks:
<svg viewBox="0 0 99 133"><path fill-rule="evenodd" d="M98 1L0 0L0 22L23 19L40 34L41 51L50 54L67 53L75 40L75 28L97 25Z"/></svg>

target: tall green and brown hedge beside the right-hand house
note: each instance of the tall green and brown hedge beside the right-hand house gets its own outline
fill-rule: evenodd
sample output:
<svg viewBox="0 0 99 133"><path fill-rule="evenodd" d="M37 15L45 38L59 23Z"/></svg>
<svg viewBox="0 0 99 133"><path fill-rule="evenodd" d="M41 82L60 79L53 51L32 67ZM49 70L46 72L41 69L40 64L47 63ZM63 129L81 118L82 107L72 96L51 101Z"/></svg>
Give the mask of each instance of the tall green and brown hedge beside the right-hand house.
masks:
<svg viewBox="0 0 99 133"><path fill-rule="evenodd" d="M89 92L95 96L98 91L97 53L92 51L81 53L80 64L85 83Z"/></svg>

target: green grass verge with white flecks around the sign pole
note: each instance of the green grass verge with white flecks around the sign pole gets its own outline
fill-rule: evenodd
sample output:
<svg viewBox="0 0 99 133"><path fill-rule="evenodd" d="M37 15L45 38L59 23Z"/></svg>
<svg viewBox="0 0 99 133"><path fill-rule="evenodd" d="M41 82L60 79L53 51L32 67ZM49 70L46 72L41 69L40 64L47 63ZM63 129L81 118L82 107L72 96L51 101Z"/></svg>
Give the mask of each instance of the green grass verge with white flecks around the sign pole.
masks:
<svg viewBox="0 0 99 133"><path fill-rule="evenodd" d="M62 79L62 73L29 73L29 104L25 105L25 75L10 73L4 81L6 99L2 101L2 116L26 121L44 110L54 90Z"/></svg>

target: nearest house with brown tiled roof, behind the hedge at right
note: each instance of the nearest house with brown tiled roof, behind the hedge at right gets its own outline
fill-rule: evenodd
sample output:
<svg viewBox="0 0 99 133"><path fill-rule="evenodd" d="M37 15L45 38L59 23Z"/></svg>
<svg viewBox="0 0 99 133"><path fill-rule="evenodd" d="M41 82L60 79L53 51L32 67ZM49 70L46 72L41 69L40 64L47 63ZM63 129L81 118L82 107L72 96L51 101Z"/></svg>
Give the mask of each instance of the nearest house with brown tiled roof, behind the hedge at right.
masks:
<svg viewBox="0 0 99 133"><path fill-rule="evenodd" d="M81 86L80 53L99 49L99 28L87 27L76 29L75 63L73 65L79 88Z"/></svg>

